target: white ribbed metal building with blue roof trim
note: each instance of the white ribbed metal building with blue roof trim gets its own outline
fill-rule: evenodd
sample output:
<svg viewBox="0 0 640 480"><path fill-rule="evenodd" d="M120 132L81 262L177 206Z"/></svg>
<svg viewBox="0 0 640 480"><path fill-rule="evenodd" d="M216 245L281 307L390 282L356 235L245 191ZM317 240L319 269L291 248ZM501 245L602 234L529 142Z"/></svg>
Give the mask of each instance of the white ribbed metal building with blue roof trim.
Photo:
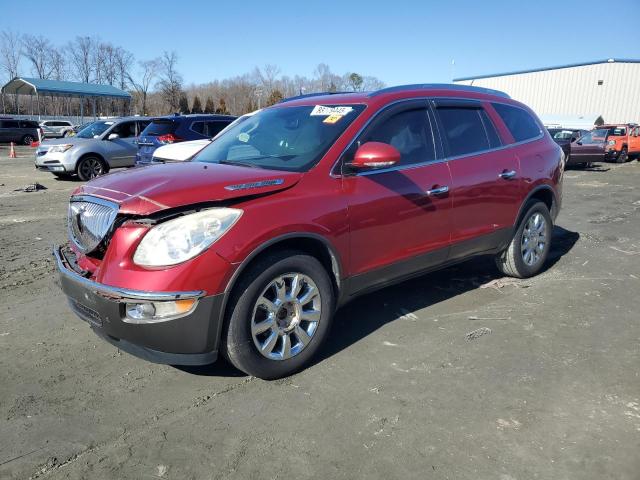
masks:
<svg viewBox="0 0 640 480"><path fill-rule="evenodd" d="M640 123L640 60L610 58L453 81L502 90L540 117L597 114L606 123Z"/></svg>

